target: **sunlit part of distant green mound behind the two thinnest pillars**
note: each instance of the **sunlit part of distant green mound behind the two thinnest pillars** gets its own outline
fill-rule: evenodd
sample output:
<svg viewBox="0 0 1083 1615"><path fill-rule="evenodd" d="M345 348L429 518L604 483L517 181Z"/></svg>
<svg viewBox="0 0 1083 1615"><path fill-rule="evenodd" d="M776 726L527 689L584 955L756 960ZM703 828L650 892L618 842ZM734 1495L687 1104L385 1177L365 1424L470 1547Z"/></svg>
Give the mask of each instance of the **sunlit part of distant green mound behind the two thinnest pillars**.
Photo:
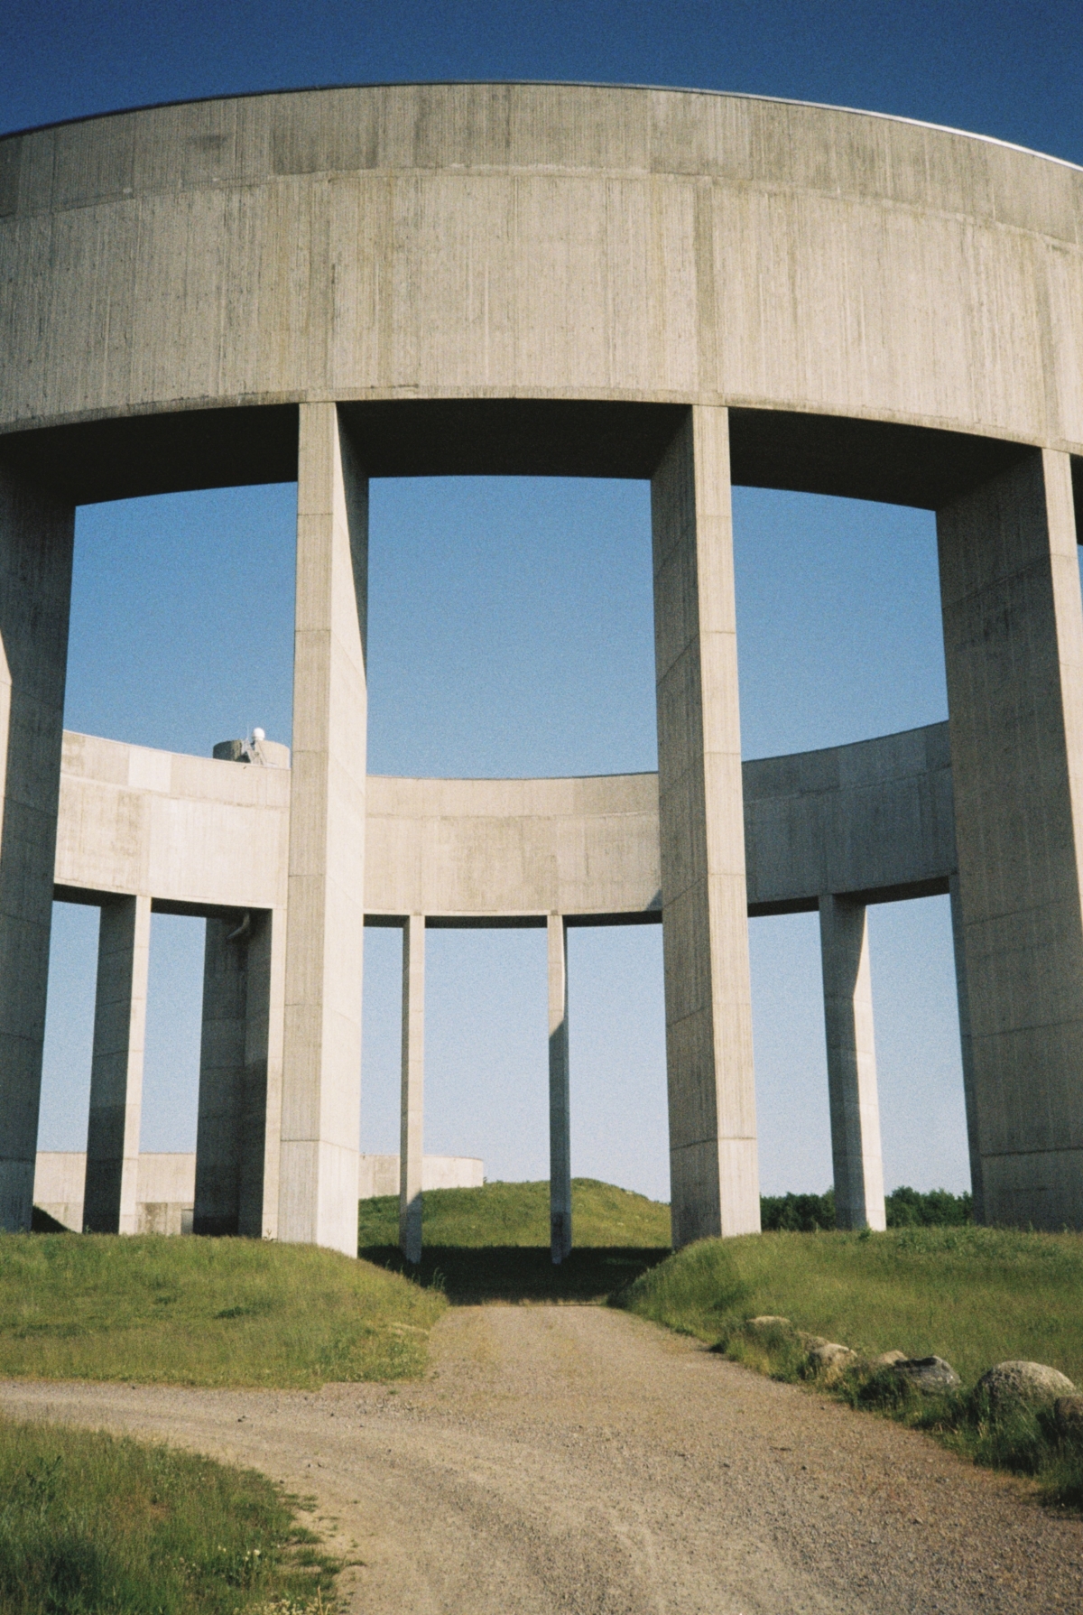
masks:
<svg viewBox="0 0 1083 1615"><path fill-rule="evenodd" d="M670 1245L670 1208L600 1184L571 1179L571 1226L576 1245L600 1248ZM484 1184L481 1189L429 1189L424 1195L426 1245L546 1245L549 1247L549 1184ZM399 1239L399 1197L362 1200L358 1245L394 1245Z"/></svg>

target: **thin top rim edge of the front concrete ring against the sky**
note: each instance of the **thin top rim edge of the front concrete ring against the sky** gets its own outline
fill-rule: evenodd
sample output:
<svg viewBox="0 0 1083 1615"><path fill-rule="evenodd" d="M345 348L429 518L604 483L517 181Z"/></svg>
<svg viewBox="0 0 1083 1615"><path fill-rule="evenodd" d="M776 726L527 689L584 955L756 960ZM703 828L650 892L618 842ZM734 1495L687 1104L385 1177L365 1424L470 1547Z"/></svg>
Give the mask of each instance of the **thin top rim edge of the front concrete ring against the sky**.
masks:
<svg viewBox="0 0 1083 1615"><path fill-rule="evenodd" d="M1067 157L1056 157L1052 152L1039 152L1031 145L1020 145L1017 141L1004 141L996 134L980 134L975 129L957 129L954 124L931 123L926 118L904 118L899 113L875 111L873 108L868 107L838 107L833 102L805 102L799 100L794 95L757 95L746 90L710 90L684 84L618 84L618 82L604 82L592 79L378 79L373 82L294 84L289 87L265 89L265 90L234 90L232 94L228 95L194 95L194 97L178 97L176 100L142 102L136 107L113 107L105 111L84 113L79 118L55 118L50 123L36 123L36 124L27 124L21 129L6 129L0 132L0 142L18 141L29 134L45 134L50 129L68 129L73 124L81 124L81 123L102 123L105 118L128 118L144 111L166 111L173 107L205 107L211 102L258 100L268 95L320 95L320 94L329 94L332 90L462 89L462 87L579 89L579 90L615 90L615 92L628 90L633 94L652 94L652 95L704 95L704 97L717 97L720 100L765 102L773 107L805 107L813 111L846 113L847 116L852 118L880 118L884 123L897 123L910 129L931 129L936 134L952 134L964 141L975 141L981 145L996 145L1006 152L1020 152L1023 157L1036 157L1043 163L1056 163L1060 168L1070 168L1073 173L1083 173L1083 163L1073 163Z"/></svg>

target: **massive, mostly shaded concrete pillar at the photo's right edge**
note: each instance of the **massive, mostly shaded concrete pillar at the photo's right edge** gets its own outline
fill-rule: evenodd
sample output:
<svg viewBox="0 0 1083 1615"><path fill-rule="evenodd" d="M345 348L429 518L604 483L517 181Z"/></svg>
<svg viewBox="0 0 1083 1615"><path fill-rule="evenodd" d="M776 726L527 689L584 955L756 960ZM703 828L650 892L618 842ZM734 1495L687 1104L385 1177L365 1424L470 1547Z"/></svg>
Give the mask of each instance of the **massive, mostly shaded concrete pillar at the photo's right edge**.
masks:
<svg viewBox="0 0 1083 1615"><path fill-rule="evenodd" d="M938 512L983 1214L1083 1227L1083 607L1067 454Z"/></svg>

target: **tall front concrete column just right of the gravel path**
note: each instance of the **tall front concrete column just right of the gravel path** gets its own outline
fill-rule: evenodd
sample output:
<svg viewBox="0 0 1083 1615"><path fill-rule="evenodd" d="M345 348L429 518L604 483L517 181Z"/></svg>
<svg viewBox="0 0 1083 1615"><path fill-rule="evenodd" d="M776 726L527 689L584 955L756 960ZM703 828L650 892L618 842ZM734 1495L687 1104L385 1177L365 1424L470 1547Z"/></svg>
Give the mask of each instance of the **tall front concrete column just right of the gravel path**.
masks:
<svg viewBox="0 0 1083 1615"><path fill-rule="evenodd" d="M650 484L673 1244L757 1232L728 412Z"/></svg>

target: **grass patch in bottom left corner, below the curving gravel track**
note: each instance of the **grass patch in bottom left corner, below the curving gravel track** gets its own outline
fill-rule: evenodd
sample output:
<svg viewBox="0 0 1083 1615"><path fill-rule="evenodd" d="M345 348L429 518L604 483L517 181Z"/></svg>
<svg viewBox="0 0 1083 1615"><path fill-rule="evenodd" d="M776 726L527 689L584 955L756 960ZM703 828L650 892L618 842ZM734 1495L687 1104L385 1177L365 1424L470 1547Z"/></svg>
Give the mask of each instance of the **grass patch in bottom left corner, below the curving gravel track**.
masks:
<svg viewBox="0 0 1083 1615"><path fill-rule="evenodd" d="M2 1615L302 1615L337 1568L252 1470L0 1420Z"/></svg>

